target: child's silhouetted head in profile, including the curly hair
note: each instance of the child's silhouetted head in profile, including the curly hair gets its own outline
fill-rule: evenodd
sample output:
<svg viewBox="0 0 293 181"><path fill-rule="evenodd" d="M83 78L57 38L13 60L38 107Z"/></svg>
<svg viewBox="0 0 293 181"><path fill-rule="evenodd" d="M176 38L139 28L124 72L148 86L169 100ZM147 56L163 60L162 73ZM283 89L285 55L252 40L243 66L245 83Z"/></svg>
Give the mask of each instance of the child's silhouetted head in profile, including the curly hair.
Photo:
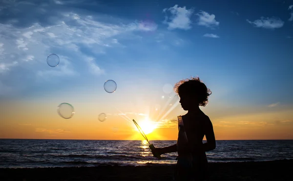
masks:
<svg viewBox="0 0 293 181"><path fill-rule="evenodd" d="M175 84L174 90L179 95L184 110L195 106L205 107L208 104L208 96L211 94L211 91L199 77L179 81Z"/></svg>

